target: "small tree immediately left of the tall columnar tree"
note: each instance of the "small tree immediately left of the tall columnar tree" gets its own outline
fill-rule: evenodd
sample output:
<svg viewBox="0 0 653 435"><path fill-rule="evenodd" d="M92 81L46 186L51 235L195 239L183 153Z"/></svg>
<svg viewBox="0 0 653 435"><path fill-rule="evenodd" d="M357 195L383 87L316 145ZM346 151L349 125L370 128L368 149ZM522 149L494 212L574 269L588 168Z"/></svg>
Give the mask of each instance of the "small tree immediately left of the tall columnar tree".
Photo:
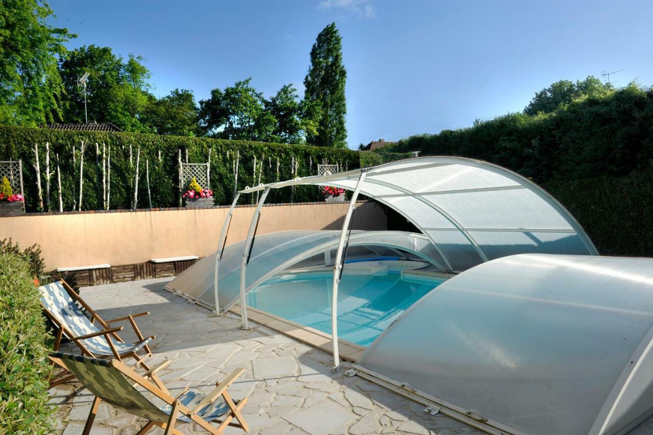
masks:
<svg viewBox="0 0 653 435"><path fill-rule="evenodd" d="M292 85L283 85L281 89L265 102L265 108L276 120L272 135L275 142L286 144L304 143L306 126L303 121L303 104L299 101L297 89Z"/></svg>

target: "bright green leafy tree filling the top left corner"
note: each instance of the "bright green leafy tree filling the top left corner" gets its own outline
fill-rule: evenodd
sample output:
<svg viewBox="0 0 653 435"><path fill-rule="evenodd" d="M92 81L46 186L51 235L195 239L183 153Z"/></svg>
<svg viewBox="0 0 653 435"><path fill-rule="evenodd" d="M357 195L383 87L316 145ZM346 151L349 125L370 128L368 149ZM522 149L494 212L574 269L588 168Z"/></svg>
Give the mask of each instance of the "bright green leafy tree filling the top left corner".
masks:
<svg viewBox="0 0 653 435"><path fill-rule="evenodd" d="M41 0L0 2L0 123L35 126L61 115L57 57L76 35L47 25L50 15Z"/></svg>

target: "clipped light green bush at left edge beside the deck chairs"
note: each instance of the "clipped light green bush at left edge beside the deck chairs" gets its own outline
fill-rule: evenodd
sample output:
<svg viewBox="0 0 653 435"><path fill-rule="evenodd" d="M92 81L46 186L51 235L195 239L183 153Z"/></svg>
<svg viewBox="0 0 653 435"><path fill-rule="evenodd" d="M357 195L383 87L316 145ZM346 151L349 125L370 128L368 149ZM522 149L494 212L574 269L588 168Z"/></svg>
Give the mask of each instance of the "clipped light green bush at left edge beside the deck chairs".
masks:
<svg viewBox="0 0 653 435"><path fill-rule="evenodd" d="M0 433L52 432L48 338L27 261L0 253Z"/></svg>

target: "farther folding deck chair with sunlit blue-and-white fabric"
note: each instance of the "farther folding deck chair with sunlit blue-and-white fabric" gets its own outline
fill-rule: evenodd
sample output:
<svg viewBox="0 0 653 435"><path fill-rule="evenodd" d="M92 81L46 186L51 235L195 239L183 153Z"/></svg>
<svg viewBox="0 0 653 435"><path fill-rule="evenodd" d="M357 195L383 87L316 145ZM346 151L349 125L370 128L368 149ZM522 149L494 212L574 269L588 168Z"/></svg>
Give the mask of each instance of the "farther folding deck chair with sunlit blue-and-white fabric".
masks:
<svg viewBox="0 0 653 435"><path fill-rule="evenodd" d="M83 355L94 358L115 358L118 361L131 357L136 360L135 364L140 364L145 370L150 370L150 367L145 364L144 358L146 356L151 357L152 352L148 343L155 336L152 335L144 338L134 320L135 317L147 315L150 312L132 314L125 317L118 317L118 319L104 321L63 280L40 286L39 293L43 311L58 329L54 342L55 351L59 350L61 337L65 335L82 349ZM88 311L91 315L90 319L80 310L80 307L75 301L79 302ZM96 320L102 329L94 325ZM123 342L118 336L117 332L122 330L123 327L109 327L112 323L127 320L131 323L138 337L138 341L133 344ZM136 353L140 349L143 349L146 353L143 357L138 356ZM50 387L70 381L71 379L74 379L74 376L64 370L50 380Z"/></svg>

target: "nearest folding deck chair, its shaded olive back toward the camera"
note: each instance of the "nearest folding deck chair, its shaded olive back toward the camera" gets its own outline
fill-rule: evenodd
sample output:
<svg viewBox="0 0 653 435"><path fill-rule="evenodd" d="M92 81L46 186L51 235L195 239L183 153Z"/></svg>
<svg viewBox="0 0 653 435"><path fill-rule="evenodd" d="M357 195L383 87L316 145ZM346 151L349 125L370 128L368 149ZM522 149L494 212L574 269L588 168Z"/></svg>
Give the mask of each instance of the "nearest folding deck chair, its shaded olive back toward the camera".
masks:
<svg viewBox="0 0 653 435"><path fill-rule="evenodd" d="M114 408L147 419L148 423L137 435L145 434L155 425L163 428L165 434L182 434L174 428L177 421L197 423L211 434L221 434L227 425L240 427L245 432L249 430L240 413L247 398L234 401L227 391L229 385L244 372L243 368L237 368L223 381L215 383L215 389L208 395L186 388L174 398L156 374L170 364L170 360L157 364L144 376L140 376L117 359L96 359L53 352L50 353L50 360L67 367L84 387L95 395L83 435L91 431L101 400ZM148 378L153 382L148 381ZM157 406L153 403L136 389L137 385L159 398L163 405ZM238 423L232 423L234 418ZM219 422L219 425L214 427L210 424L213 421Z"/></svg>

